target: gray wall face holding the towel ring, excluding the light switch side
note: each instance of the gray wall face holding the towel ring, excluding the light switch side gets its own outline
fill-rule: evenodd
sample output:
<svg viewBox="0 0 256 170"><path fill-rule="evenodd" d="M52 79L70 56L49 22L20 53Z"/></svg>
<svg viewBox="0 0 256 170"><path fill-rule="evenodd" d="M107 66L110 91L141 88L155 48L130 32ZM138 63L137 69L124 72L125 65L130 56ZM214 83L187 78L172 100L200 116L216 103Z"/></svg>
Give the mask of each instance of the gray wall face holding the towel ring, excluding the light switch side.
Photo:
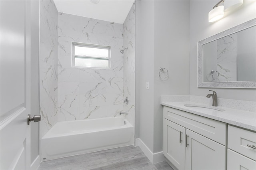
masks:
<svg viewBox="0 0 256 170"><path fill-rule="evenodd" d="M154 152L162 151L161 95L189 94L188 0L158 0L154 6ZM159 68L169 78L159 78ZM164 76L164 75L162 75Z"/></svg>

